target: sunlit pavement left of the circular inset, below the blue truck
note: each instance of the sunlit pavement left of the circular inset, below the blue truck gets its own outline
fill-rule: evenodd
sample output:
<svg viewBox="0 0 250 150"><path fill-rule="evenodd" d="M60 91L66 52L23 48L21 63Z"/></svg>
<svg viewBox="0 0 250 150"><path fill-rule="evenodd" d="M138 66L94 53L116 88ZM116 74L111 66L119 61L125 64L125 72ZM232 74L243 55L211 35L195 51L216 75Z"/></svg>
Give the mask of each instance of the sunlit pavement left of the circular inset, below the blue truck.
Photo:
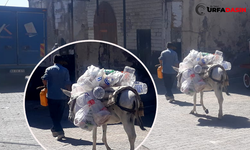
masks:
<svg viewBox="0 0 250 150"><path fill-rule="evenodd" d="M42 149L25 121L22 92L0 92L0 120L0 149Z"/></svg>

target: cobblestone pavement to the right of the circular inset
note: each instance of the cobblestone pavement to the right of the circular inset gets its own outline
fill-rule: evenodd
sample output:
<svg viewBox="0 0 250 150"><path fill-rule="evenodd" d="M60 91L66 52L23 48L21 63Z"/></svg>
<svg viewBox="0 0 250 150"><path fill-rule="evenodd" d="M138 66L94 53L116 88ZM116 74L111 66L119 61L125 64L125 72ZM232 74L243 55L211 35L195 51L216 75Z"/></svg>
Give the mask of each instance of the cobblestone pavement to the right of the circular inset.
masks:
<svg viewBox="0 0 250 150"><path fill-rule="evenodd" d="M163 84L159 79L156 83L159 93L156 121L139 150L250 149L250 90L243 87L241 78L230 81L231 96L223 94L222 120L217 119L218 102L213 92L204 93L209 114L198 105L198 114L192 115L189 114L193 108L192 97L175 90L176 101L169 103Z"/></svg>

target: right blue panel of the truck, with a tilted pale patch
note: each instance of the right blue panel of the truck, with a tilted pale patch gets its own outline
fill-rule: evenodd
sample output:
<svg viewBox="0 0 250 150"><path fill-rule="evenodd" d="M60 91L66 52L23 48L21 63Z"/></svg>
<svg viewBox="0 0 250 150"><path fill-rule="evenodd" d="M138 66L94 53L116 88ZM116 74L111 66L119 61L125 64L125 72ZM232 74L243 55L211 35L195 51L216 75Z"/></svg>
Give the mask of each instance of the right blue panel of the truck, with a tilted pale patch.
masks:
<svg viewBox="0 0 250 150"><path fill-rule="evenodd" d="M45 53L45 16L43 13L18 15L18 63L37 64Z"/></svg>

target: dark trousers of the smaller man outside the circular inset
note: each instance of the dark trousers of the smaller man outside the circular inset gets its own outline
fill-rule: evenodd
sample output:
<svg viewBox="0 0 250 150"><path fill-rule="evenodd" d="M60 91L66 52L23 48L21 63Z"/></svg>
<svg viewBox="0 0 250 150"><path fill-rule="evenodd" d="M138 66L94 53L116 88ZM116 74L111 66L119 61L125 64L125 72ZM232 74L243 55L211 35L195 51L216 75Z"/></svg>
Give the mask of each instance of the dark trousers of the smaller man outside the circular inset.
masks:
<svg viewBox="0 0 250 150"><path fill-rule="evenodd" d="M164 85L167 91L166 96L169 96L169 97L174 96L172 93L172 87L173 87L175 78L176 78L176 74L163 73Z"/></svg>

